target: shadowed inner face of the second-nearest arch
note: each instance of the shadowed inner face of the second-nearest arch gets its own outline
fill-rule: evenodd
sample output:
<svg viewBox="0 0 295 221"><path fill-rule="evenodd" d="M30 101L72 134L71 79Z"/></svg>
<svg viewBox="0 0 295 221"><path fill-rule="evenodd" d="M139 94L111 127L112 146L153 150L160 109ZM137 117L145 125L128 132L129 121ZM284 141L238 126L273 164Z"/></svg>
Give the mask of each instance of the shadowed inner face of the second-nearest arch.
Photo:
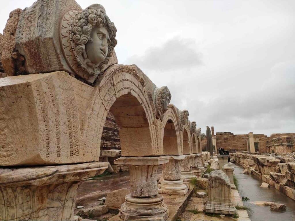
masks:
<svg viewBox="0 0 295 221"><path fill-rule="evenodd" d="M174 122L168 119L164 128L163 155L178 155L177 134Z"/></svg>

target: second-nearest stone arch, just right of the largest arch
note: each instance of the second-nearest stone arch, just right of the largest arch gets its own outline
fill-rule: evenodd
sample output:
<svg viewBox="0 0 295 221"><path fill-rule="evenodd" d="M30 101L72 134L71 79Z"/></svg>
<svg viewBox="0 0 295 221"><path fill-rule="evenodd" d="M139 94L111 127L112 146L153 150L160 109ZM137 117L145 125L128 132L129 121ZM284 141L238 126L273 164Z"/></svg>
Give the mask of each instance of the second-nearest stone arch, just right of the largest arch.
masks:
<svg viewBox="0 0 295 221"><path fill-rule="evenodd" d="M181 155L181 138L178 125L178 113L173 104L169 104L162 120L163 125L163 155Z"/></svg>

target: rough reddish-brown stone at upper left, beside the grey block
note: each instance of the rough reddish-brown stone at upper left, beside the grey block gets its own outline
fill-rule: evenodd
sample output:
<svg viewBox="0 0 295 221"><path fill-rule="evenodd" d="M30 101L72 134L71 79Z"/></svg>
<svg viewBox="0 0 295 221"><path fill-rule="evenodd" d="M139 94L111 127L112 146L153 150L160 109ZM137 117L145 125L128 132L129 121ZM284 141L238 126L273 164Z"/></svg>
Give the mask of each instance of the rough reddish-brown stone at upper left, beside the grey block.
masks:
<svg viewBox="0 0 295 221"><path fill-rule="evenodd" d="M3 38L0 42L2 48L1 62L5 73L9 76L21 74L24 71L23 67L20 70L18 68L15 69L17 64L23 60L23 57L15 50L15 33L21 13L22 9L15 9L10 12L9 19L7 20L6 26L3 30Z"/></svg>

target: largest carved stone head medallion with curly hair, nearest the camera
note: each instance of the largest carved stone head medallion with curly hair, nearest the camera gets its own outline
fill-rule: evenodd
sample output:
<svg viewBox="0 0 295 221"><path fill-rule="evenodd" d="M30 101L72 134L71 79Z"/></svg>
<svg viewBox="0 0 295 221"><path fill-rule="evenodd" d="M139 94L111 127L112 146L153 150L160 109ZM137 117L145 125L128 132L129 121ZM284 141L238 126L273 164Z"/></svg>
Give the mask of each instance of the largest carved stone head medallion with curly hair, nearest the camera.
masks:
<svg viewBox="0 0 295 221"><path fill-rule="evenodd" d="M117 44L117 29L104 7L93 4L83 11L68 11L60 22L60 42L73 74L93 83L103 72Z"/></svg>

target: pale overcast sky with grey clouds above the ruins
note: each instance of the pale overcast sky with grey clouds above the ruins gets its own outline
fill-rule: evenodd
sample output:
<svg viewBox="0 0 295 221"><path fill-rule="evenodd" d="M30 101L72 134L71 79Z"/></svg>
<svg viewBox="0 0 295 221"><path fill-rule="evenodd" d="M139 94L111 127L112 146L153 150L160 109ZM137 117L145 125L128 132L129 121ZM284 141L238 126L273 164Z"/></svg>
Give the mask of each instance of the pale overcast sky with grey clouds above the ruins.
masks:
<svg viewBox="0 0 295 221"><path fill-rule="evenodd" d="M1 1L9 12L32 0ZM136 64L190 121L215 132L295 132L295 1L113 1L119 63Z"/></svg>

